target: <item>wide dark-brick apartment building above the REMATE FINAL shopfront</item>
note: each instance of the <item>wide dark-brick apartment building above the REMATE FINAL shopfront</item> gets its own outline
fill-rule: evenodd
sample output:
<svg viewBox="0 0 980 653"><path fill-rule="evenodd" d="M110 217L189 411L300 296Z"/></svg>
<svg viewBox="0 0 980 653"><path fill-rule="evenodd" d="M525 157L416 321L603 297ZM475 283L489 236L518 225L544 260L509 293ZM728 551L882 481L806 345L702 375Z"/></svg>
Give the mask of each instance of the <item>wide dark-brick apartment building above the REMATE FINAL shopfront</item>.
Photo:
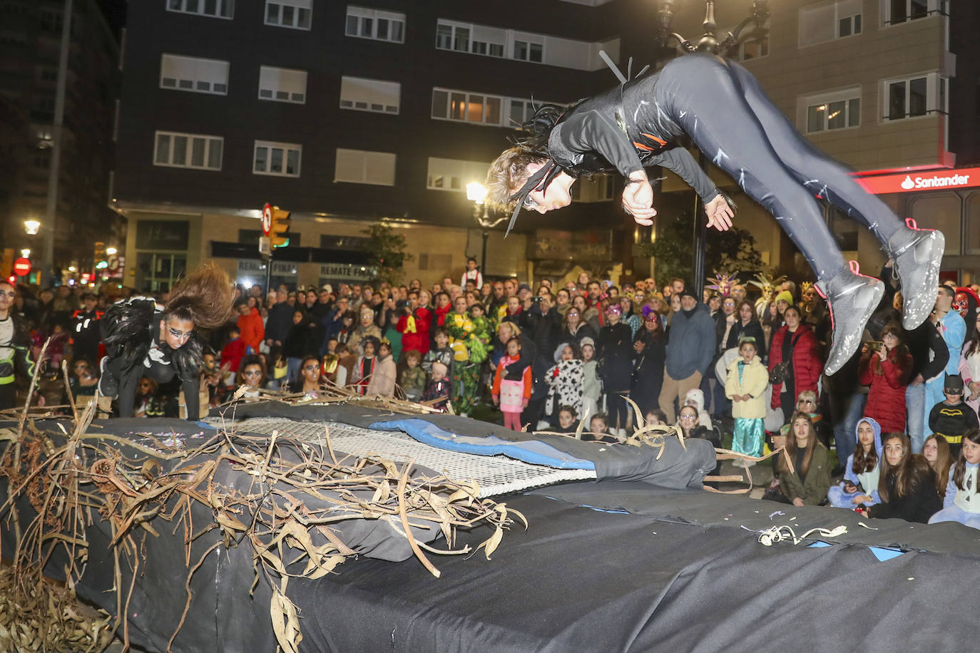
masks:
<svg viewBox="0 0 980 653"><path fill-rule="evenodd" d="M255 280L267 202L292 211L276 283L363 278L363 230L380 219L408 238L406 280L461 271L481 245L466 184L483 181L533 103L614 83L599 52L619 61L624 8L130 3L112 193L129 225L125 283L164 289L209 258ZM506 241L503 226L491 232L485 272L561 271L587 243L612 260L629 224L616 183L583 183L559 215L524 211Z"/></svg>

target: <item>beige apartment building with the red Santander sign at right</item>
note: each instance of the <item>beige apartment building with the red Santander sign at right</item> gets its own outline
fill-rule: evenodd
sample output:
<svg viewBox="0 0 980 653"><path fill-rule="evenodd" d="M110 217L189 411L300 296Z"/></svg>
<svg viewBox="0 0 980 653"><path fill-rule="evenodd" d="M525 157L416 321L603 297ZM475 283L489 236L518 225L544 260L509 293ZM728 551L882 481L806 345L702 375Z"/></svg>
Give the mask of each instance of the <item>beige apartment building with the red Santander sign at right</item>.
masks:
<svg viewBox="0 0 980 653"><path fill-rule="evenodd" d="M946 235L943 276L963 283L980 270L980 5L947 0L770 2L769 32L739 55L773 102L816 147L858 171L902 218ZM751 0L724 3L719 25L751 13ZM674 27L699 35L704 3L686 2ZM748 54L749 56L745 56ZM715 171L719 183L733 187ZM680 190L673 178L665 190ZM738 217L783 270L807 266L774 220L743 203ZM878 241L828 209L847 257L869 273Z"/></svg>

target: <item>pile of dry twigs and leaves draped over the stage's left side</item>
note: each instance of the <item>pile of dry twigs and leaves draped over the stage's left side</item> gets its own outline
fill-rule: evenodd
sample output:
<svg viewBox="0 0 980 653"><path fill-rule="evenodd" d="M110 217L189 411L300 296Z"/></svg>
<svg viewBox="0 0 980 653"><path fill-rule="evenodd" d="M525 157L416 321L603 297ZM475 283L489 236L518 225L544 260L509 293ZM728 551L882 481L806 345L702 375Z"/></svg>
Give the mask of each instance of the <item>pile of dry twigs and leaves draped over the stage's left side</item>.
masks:
<svg viewBox="0 0 980 653"><path fill-rule="evenodd" d="M345 395L342 400L350 399ZM147 536L158 536L162 522L171 523L174 532L182 527L187 565L187 600L171 644L190 609L195 572L214 551L244 544L252 551L253 589L263 579L270 584L272 627L280 647L290 652L302 634L298 610L286 596L288 580L320 578L357 555L331 525L383 520L406 538L436 577L439 571L424 551L470 552L468 546L457 548L458 529L493 527L476 546L489 560L515 519L527 527L523 515L506 504L478 498L475 482L413 475L412 462L399 468L380 457L338 457L328 432L325 445L316 446L284 433L257 438L222 429L194 449L177 450L152 437L147 445L89 433L95 410L94 404L82 410L72 433L64 427L62 434L39 430L26 415L17 431L0 432L0 442L6 440L0 477L6 477L8 487L0 519L10 525L16 542L13 564L0 574L5 597L0 644L9 636L29 650L101 650L122 625L128 648L124 615L145 563L143 543ZM243 475L248 484L241 483ZM238 488L247 490L236 489L230 483L235 479ZM25 510L25 503L32 510ZM202 508L211 517L204 525ZM116 560L117 607L111 626L108 616L79 623L67 607L87 562L85 529L97 520L111 527ZM430 528L445 537L446 549L426 545L413 533ZM192 561L195 542L196 550L210 545ZM50 583L42 581L42 570L56 552L65 554L68 563L64 589L53 592L43 589ZM123 569L131 575L125 583Z"/></svg>

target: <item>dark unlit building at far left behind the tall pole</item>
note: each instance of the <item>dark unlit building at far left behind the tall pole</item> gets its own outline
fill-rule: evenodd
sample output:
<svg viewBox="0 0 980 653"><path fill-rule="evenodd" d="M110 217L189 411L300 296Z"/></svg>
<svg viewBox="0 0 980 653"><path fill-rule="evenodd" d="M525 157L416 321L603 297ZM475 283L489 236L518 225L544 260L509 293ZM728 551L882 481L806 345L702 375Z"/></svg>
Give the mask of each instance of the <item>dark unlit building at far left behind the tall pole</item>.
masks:
<svg viewBox="0 0 980 653"><path fill-rule="evenodd" d="M58 269L91 268L98 241L123 238L123 220L108 208L114 163L114 117L119 84L119 41L95 0L74 0L58 201L54 224L46 216L54 137L64 0L0 2L0 131L18 143L16 182L0 203L5 248L30 249L40 260L41 238L24 221L53 229ZM3 191L0 191L3 193ZM60 281L55 275L55 281ZM42 280L46 285L49 280Z"/></svg>

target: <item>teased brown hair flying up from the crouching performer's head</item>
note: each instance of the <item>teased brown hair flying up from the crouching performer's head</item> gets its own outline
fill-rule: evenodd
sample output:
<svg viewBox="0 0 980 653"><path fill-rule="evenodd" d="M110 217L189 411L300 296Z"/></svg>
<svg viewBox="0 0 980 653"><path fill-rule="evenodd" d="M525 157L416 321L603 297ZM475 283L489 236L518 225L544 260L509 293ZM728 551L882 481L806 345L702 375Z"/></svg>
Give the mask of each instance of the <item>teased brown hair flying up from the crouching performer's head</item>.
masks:
<svg viewBox="0 0 980 653"><path fill-rule="evenodd" d="M164 319L190 320L195 327L217 329L231 316L234 287L214 261L198 266L177 282L164 309Z"/></svg>

